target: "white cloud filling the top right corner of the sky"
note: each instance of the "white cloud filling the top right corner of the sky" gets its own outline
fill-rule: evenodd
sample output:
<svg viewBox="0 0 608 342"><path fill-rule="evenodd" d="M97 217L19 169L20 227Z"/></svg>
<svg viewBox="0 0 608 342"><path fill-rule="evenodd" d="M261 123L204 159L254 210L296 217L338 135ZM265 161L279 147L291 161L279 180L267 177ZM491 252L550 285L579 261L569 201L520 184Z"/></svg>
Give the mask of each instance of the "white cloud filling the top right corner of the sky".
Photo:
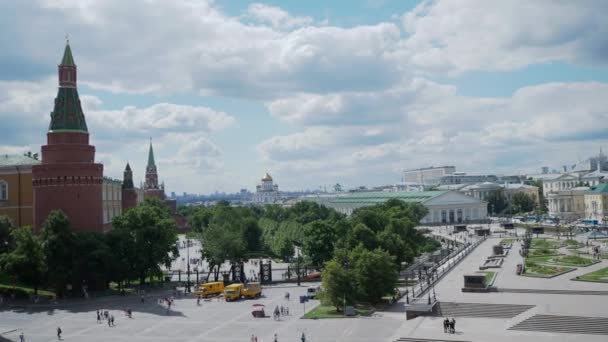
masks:
<svg viewBox="0 0 608 342"><path fill-rule="evenodd" d="M403 16L400 55L438 72L606 64L607 12L603 0L427 0Z"/></svg>

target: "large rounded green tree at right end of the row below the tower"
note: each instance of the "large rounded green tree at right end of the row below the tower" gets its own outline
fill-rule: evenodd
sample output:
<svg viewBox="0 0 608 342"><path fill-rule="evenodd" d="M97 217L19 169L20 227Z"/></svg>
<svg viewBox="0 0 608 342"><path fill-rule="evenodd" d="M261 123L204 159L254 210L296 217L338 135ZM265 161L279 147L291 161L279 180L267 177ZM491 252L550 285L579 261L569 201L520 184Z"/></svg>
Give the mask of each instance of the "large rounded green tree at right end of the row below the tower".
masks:
<svg viewBox="0 0 608 342"><path fill-rule="evenodd" d="M148 275L160 273L159 265L170 265L178 254L175 220L169 209L159 200L147 199L112 221L114 229L128 232L134 253L131 264L144 285ZM125 234L126 236L127 234Z"/></svg>

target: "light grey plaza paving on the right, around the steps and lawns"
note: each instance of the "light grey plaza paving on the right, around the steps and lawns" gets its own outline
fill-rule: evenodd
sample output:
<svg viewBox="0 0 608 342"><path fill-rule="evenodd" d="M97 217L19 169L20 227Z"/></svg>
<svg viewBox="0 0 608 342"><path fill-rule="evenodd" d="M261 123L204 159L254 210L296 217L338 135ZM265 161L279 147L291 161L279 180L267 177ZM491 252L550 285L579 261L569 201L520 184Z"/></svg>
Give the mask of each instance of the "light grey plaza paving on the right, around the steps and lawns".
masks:
<svg viewBox="0 0 608 342"><path fill-rule="evenodd" d="M461 340L473 342L486 341L515 341L518 342L555 342L555 341L602 341L608 340L606 335L580 335L530 331L514 331L507 328L531 317L533 314L552 314L567 316L605 317L608 324L607 295L576 295L576 294L540 294L540 293L463 293L463 275L475 273L482 261L492 254L492 246L499 243L501 238L489 238L469 254L450 273L442 278L435 286L437 300L459 303L488 303L488 304L525 304L536 305L535 308L512 319L496 318L456 318L457 334L443 333L443 317L418 317L404 322L389 340L400 337L415 337L426 339ZM579 267L577 270L551 279L521 277L515 273L517 263L522 261L518 253L519 244L514 243L511 252L497 271L494 286L509 289L535 290L584 290L608 291L608 284L572 281L577 275L585 274L608 266L608 261ZM400 301L403 308L403 300ZM399 305L399 303L397 304ZM404 309L403 309L404 310ZM395 313L391 313L395 315Z"/></svg>

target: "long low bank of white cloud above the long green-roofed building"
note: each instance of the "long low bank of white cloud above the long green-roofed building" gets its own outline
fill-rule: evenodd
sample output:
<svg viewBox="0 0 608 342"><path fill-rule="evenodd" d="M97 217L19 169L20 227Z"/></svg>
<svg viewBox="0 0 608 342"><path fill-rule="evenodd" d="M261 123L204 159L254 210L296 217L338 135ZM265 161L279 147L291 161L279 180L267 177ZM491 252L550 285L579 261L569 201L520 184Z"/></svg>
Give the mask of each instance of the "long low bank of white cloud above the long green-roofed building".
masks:
<svg viewBox="0 0 608 342"><path fill-rule="evenodd" d="M337 170L342 170L343 177L353 173L373 177L376 172L377 179L395 172L398 181L402 168L437 162L465 169L530 171L522 169L524 162L531 164L531 156L544 149L551 151L554 145L570 144L568 150L572 150L572 146L589 144L581 139L608 142L607 97L608 84L581 82L523 87L510 98L471 98L459 95L453 87L422 79L365 96L299 95L277 106L269 104L269 110L287 121L294 119L282 113L297 113L296 121L306 125L317 123L323 113L319 108L324 108L307 105L310 102L331 103L336 98L342 103L362 98L368 102L335 107L332 119L324 125L267 139L258 150L274 169L310 173L328 183L331 177L340 179ZM352 124L353 115L371 119L386 103L394 109L390 121ZM561 163L575 155L553 157L562 159L547 162ZM502 165L501 160L511 164ZM328 176L323 165L335 168L334 175Z"/></svg>

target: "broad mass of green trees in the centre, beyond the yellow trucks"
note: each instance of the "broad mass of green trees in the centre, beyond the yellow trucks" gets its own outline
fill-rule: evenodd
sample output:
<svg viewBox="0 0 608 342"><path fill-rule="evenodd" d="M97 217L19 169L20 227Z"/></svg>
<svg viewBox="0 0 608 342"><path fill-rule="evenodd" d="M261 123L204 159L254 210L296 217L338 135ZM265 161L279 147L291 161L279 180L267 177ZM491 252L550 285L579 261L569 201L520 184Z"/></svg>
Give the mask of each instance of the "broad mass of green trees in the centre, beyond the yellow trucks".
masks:
<svg viewBox="0 0 608 342"><path fill-rule="evenodd" d="M415 229L427 209L399 200L360 208L350 217L314 202L289 208L231 207L220 202L184 213L189 215L216 277L224 261L237 263L255 255L294 262L298 246L304 264L324 267L324 287L336 294L326 296L332 303L338 293L340 303L345 293L350 301L378 301L394 288L404 263L439 247ZM352 289L326 284L335 279L348 279ZM333 288L340 291L331 292Z"/></svg>

